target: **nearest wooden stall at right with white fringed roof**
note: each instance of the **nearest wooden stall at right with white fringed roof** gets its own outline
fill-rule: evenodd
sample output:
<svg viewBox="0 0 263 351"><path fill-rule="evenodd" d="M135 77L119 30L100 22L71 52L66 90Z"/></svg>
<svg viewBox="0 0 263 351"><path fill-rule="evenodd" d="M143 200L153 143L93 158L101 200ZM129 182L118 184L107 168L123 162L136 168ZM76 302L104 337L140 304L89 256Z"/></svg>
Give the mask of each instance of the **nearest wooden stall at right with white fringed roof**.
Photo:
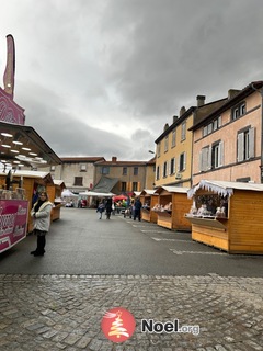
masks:
<svg viewBox="0 0 263 351"><path fill-rule="evenodd" d="M192 224L193 240L228 253L263 253L263 184L202 180L188 197L193 205L185 217ZM216 212L198 213L213 199Z"/></svg>

